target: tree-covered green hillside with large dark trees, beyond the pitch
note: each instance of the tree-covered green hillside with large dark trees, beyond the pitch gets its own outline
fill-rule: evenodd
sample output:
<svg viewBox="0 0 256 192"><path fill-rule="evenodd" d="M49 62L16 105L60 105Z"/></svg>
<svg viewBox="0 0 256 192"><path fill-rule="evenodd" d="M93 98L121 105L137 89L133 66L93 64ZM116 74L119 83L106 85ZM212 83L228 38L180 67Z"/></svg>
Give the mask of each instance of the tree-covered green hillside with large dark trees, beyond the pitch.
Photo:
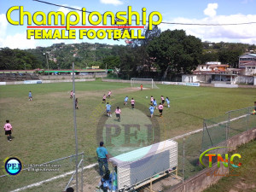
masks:
<svg viewBox="0 0 256 192"><path fill-rule="evenodd" d="M68 69L99 66L113 69L120 78L130 77L172 79L180 73L190 73L207 61L220 61L238 67L238 56L253 53L256 46L236 43L201 42L183 30L160 32L157 26L146 30L145 39L127 45L53 44L36 49L0 50L0 70L47 68Z"/></svg>

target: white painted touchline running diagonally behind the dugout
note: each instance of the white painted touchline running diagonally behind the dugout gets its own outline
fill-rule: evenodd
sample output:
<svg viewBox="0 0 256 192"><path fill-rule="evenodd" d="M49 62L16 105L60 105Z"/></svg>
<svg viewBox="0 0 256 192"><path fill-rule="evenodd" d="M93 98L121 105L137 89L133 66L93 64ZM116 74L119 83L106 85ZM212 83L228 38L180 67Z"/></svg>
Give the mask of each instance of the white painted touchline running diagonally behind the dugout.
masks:
<svg viewBox="0 0 256 192"><path fill-rule="evenodd" d="M236 119L244 118L244 117L246 117L247 115L249 115L249 114L244 114L244 115L241 115L241 116L239 116L239 117L237 117L237 118L230 119L230 121L234 121L234 120L236 120ZM227 123L227 122L229 122L229 121L228 121L228 120L225 120L225 121L220 122L220 123L218 123L218 124L210 125L210 126L208 126L207 128L212 128L212 127L214 127L214 126L216 126L216 125L224 124L224 123ZM197 133L197 132L201 132L201 131L203 131L203 129L198 129L198 130L195 130L195 131L191 131L191 132L189 132L189 133L185 133L185 134L180 135L180 136L177 136L177 137L172 137L171 139L172 139L172 140L177 140L177 139L179 139L179 138L187 137L187 136L189 136L189 135L193 135L193 134L195 134L195 133ZM96 165L97 165L97 163L91 164L91 165L89 165L89 166L85 166L85 167L83 168L83 170L84 170L84 169L90 169L90 168L92 168L92 167L94 167L94 166L96 166ZM75 171L73 171L73 172L75 172ZM65 173L65 174L62 174L62 175L59 175L59 176L56 176L56 177L51 177L51 178L46 179L46 180L44 180L44 181L41 181L41 182L38 182L38 183L33 183L33 184L27 185L27 186L25 186L25 187L12 190L12 191L10 191L10 192L16 192L16 191L20 191L20 190L29 189L29 188L32 188L32 187L38 187L38 186L42 185L43 183L47 183L47 182L53 181L53 180L55 180L55 179L58 179L58 178L61 178L61 177L66 177L66 176L68 176L68 175L71 175L71 174L73 174L73 172L67 172L67 173ZM81 169L79 169L79 172L81 172Z"/></svg>

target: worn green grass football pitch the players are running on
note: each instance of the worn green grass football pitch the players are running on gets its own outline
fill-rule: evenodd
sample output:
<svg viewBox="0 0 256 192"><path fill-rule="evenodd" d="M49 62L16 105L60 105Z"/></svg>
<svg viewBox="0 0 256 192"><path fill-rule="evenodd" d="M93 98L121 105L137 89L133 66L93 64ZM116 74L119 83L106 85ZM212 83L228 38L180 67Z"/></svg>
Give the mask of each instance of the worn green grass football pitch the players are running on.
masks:
<svg viewBox="0 0 256 192"><path fill-rule="evenodd" d="M253 102L256 100L255 89L162 84L158 86L160 87L158 90L140 91L131 90L130 84L101 81L76 83L76 96L79 98L79 110L76 110L79 152L84 151L88 164L96 162L97 128L101 124L101 120L120 127L125 123L144 125L150 123L151 120L153 124L159 126L158 139L163 141L201 128L203 118L218 117L229 110L253 106ZM27 99L29 90L32 90L32 102L28 102ZM73 102L69 99L70 90L72 90L72 83L0 86L0 122L3 126L5 120L9 119L14 127L14 139L10 143L7 142L3 129L0 131L1 167L3 160L8 156L19 157L24 164L40 164L75 153ZM108 90L113 91L113 96L109 100L113 105L112 111L117 105L123 111L120 124L115 121L115 117L108 119L105 115L102 95L108 94ZM131 97L135 98L136 110L131 110L130 104L123 105L126 95L130 100ZM163 118L159 118L159 113L155 110L154 118L149 119L149 98L154 96L159 103L161 95L170 98L171 108L164 108ZM97 109L98 106L101 108L100 110ZM131 132L133 131L136 130L131 130ZM102 131L103 135L104 133ZM146 135L144 133L141 131L139 137L143 138ZM120 135L125 137L122 134ZM145 139L143 138L137 146L135 146L137 139L133 137L128 144L125 144L124 139L113 139L113 146L107 145L107 148L120 154L124 151L117 149L131 150L147 145ZM119 148L114 148L115 146L119 146ZM0 175L3 174L1 169ZM16 179L15 184L8 185L6 178L0 178L0 191L16 189L32 183L23 183L22 179L26 180L26 178L21 179L19 176Z"/></svg>

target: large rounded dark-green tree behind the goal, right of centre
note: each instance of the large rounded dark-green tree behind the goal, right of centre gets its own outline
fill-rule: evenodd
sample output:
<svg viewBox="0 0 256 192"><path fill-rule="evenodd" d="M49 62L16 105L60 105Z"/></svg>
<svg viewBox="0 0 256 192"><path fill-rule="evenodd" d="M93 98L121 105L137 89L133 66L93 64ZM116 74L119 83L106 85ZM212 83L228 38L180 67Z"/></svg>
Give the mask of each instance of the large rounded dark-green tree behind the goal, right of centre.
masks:
<svg viewBox="0 0 256 192"><path fill-rule="evenodd" d="M167 30L149 42L147 52L154 57L163 79L167 73L191 73L201 63L201 39L183 30Z"/></svg>

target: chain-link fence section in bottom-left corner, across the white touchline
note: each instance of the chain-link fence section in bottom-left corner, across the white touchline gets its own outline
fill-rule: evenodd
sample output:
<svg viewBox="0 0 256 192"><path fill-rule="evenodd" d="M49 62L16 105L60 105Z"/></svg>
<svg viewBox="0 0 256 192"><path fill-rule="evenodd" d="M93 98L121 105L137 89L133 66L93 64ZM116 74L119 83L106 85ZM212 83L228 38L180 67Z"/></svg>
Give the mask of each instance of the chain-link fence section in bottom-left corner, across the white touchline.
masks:
<svg viewBox="0 0 256 192"><path fill-rule="evenodd" d="M78 154L83 160L84 153ZM8 174L0 176L0 191L60 191L65 189L69 177L73 175L76 167L76 155L70 155L43 164L23 164L18 177Z"/></svg>

